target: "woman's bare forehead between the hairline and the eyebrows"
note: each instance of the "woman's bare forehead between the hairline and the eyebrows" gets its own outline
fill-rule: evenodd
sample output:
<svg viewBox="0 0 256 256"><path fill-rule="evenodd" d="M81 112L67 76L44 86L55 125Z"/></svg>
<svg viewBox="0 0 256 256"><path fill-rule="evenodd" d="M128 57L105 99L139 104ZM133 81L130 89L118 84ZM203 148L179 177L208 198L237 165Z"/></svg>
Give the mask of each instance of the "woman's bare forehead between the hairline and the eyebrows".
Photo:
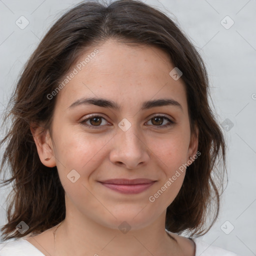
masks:
<svg viewBox="0 0 256 256"><path fill-rule="evenodd" d="M58 101L67 107L81 97L100 97L130 107L171 97L186 108L185 85L181 78L170 76L173 68L168 55L155 46L107 40L79 56L65 74L76 70L58 93Z"/></svg>

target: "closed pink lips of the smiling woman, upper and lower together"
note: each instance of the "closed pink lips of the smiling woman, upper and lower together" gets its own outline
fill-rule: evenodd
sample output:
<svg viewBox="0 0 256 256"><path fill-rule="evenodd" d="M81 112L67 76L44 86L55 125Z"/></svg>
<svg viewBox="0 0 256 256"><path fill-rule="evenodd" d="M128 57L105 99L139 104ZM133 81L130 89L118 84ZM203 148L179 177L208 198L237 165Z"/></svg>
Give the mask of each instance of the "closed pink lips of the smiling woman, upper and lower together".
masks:
<svg viewBox="0 0 256 256"><path fill-rule="evenodd" d="M108 187L114 191L125 193L125 194L136 194L140 193L152 184L156 180L151 180L148 178L135 178L135 179L107 179L104 181L99 181L105 187Z"/></svg>

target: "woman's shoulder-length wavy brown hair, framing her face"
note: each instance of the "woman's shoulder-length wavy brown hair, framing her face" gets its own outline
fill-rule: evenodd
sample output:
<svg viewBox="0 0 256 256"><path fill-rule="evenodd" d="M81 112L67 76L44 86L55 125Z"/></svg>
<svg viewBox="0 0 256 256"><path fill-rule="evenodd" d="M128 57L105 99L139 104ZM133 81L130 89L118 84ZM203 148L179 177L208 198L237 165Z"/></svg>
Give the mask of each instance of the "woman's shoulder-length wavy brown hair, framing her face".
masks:
<svg viewBox="0 0 256 256"><path fill-rule="evenodd" d="M9 167L11 172L2 183L14 181L8 223L1 228L4 240L40 233L65 218L64 189L56 166L41 163L29 124L50 128L56 97L50 100L47 95L84 50L108 38L156 46L182 71L191 134L197 126L201 155L187 167L182 187L167 207L165 228L199 236L215 222L226 170L225 141L208 104L208 78L202 58L178 25L155 7L137 0L117 0L108 6L87 1L68 10L49 29L25 64L10 99L11 109L4 122L10 120L11 126L0 141L1 146L6 143L0 171ZM216 167L217 159L222 160L223 169ZM212 207L213 202L216 207ZM212 221L205 231L209 215ZM23 234L15 228L20 221L29 226Z"/></svg>

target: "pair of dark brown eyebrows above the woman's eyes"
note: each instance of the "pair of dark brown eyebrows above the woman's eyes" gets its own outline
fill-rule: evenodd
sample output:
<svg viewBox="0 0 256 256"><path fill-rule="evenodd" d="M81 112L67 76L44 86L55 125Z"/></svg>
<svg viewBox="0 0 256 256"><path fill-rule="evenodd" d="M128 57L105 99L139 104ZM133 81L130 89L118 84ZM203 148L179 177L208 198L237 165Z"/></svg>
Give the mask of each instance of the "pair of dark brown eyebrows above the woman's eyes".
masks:
<svg viewBox="0 0 256 256"><path fill-rule="evenodd" d="M112 108L114 110L120 109L120 105L117 104L116 102L109 100L109 99L98 98L98 97L80 98L80 99L74 101L68 107L68 109L72 109L78 105L87 105L87 104L93 104L93 105L97 105L97 106ZM145 110L145 109L149 109L149 108L156 107L156 106L166 106L166 105L177 106L183 111L181 104L172 98L160 98L160 99L144 101L142 103L140 110Z"/></svg>

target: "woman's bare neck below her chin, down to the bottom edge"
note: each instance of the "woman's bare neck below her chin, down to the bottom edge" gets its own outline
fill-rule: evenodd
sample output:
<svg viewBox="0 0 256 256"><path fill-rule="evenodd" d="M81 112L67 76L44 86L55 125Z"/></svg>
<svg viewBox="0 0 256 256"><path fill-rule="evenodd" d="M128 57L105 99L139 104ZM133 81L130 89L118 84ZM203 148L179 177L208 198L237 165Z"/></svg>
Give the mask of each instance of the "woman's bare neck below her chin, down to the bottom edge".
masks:
<svg viewBox="0 0 256 256"><path fill-rule="evenodd" d="M75 227L75 223L65 218L53 232L54 255L181 255L176 239L164 226L159 228L158 223L128 232L99 226L92 221L90 225L94 228Z"/></svg>

